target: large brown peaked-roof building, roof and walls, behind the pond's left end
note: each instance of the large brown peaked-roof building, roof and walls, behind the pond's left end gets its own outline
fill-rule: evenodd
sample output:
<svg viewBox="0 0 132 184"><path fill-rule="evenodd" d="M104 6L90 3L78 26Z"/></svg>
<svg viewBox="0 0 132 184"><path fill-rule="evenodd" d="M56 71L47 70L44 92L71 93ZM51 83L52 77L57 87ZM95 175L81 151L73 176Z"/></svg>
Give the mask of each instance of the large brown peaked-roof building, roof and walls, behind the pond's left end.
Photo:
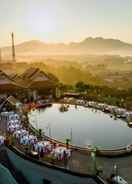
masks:
<svg viewBox="0 0 132 184"><path fill-rule="evenodd" d="M21 76L17 74L8 76L0 71L0 94L27 93L35 98L37 94L55 94L57 83L56 77L39 68L29 68Z"/></svg>

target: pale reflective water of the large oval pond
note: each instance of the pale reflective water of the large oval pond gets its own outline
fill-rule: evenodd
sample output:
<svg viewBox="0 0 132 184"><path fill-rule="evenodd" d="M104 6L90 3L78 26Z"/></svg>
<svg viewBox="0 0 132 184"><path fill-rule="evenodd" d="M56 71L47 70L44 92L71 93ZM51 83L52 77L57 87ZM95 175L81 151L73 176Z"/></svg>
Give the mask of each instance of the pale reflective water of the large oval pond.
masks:
<svg viewBox="0 0 132 184"><path fill-rule="evenodd" d="M70 105L67 112L60 112L60 104L29 113L30 123L41 128L45 135L80 147L87 145L103 149L121 148L132 143L132 129L121 119L99 110Z"/></svg>

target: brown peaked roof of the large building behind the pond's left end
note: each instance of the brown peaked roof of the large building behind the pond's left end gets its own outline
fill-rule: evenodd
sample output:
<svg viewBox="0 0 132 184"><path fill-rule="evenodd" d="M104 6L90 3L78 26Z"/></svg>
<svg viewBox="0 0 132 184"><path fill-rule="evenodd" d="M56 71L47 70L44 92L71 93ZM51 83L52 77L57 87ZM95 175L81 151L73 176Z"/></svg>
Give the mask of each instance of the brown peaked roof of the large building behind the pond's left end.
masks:
<svg viewBox="0 0 132 184"><path fill-rule="evenodd" d="M17 74L7 75L0 70L0 85L3 89L16 88L44 88L55 86L58 79L52 75L41 71L39 68L29 68L21 76Z"/></svg>

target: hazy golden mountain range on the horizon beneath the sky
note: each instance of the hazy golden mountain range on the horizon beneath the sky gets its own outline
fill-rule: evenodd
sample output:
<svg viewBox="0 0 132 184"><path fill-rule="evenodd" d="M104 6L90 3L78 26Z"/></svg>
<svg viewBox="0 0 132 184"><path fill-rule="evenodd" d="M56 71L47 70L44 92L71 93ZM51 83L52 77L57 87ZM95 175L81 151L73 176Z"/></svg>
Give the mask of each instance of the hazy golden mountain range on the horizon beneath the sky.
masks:
<svg viewBox="0 0 132 184"><path fill-rule="evenodd" d="M10 47L3 47L4 55L11 52ZM88 37L81 42L45 43L38 40L31 40L16 45L17 55L52 55L52 54L114 54L132 55L132 44L116 40L104 39L102 37Z"/></svg>

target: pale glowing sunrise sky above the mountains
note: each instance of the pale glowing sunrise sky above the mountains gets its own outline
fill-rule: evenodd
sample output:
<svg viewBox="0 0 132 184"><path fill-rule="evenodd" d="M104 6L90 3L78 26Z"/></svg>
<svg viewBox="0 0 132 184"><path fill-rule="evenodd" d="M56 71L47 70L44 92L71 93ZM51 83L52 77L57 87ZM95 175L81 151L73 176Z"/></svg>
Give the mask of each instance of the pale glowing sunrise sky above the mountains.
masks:
<svg viewBox="0 0 132 184"><path fill-rule="evenodd" d="M132 43L132 0L0 0L0 46L115 38Z"/></svg>

